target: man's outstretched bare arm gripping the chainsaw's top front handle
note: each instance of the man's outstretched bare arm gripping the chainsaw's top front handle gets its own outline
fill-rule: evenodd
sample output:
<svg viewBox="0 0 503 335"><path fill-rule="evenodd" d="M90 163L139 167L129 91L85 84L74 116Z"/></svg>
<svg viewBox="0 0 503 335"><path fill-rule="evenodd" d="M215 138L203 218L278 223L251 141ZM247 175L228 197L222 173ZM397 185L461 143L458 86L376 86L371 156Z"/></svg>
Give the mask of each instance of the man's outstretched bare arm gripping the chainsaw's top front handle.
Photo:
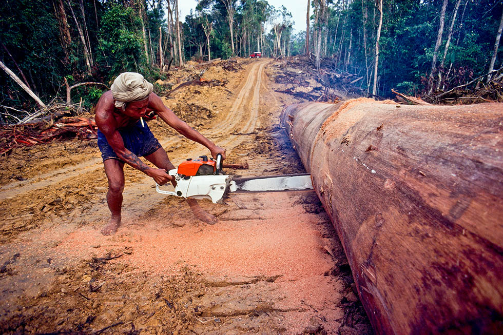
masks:
<svg viewBox="0 0 503 335"><path fill-rule="evenodd" d="M156 111L157 115L159 115L159 117L161 117L164 122L178 131L180 134L187 137L187 139L195 141L208 148L214 158L216 158L218 154L221 154L222 159L225 159L224 148L215 145L215 143L211 142L206 137L201 135L201 133L199 133L195 129L192 129L192 127L187 125L184 121L180 120L179 117L175 113L173 113L171 109L163 104L161 98L157 94L150 94L148 107Z"/></svg>

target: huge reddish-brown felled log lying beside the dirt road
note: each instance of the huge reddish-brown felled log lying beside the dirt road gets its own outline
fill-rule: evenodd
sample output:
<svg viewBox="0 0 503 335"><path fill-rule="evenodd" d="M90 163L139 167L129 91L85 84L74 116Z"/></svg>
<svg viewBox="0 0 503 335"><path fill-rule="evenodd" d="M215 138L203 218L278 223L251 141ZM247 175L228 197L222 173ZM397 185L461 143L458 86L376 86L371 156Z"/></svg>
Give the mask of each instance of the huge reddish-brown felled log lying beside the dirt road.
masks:
<svg viewBox="0 0 503 335"><path fill-rule="evenodd" d="M503 329L503 104L287 107L376 333Z"/></svg>

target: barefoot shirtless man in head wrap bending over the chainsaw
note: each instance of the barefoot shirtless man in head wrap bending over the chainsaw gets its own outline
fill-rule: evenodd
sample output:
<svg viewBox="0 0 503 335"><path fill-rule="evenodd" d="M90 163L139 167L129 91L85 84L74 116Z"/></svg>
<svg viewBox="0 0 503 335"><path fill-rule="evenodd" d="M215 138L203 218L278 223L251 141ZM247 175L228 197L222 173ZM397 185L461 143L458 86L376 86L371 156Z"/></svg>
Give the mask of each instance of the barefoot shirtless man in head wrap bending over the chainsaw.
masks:
<svg viewBox="0 0 503 335"><path fill-rule="evenodd" d="M121 73L103 93L96 104L96 125L98 125L98 146L102 153L105 173L108 179L107 203L111 212L110 221L101 230L104 235L114 234L121 224L122 191L124 190L124 163L144 172L159 185L175 180L167 171L175 168L166 151L144 123L143 117L155 111L173 129L192 141L209 149L213 157L225 149L216 146L196 130L180 120L167 108L161 98L152 92L153 86L139 73ZM139 156L157 167L147 166ZM203 211L195 199L187 199L190 209L201 221L215 224L215 216Z"/></svg>

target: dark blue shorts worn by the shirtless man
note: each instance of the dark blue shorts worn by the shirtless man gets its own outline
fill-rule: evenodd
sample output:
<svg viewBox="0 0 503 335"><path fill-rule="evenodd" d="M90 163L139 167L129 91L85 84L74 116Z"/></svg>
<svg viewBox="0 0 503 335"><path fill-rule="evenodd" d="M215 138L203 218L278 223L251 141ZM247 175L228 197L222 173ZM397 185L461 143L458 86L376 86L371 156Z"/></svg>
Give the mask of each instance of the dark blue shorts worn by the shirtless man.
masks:
<svg viewBox="0 0 503 335"><path fill-rule="evenodd" d="M147 123L145 122L144 124L145 127L142 127L140 120L138 120L138 122L132 126L119 129L119 133L124 141L124 147L139 157L148 156L161 147L159 141L148 128ZM115 151L113 151L105 135L100 130L98 130L98 147L100 148L103 162L113 159L124 163L124 161L117 156Z"/></svg>

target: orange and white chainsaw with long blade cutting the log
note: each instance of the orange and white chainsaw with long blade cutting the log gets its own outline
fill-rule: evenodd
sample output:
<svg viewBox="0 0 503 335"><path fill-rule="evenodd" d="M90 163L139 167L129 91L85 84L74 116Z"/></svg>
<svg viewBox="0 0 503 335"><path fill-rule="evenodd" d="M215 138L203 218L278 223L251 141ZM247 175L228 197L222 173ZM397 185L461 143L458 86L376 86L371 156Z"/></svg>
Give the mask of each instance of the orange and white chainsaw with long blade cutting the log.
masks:
<svg viewBox="0 0 503 335"><path fill-rule="evenodd" d="M213 203L222 203L230 192L278 192L313 189L311 175L288 174L275 176L259 176L236 178L222 174L222 155L217 159L199 156L197 159L187 159L177 169L168 171L175 177L175 191L162 190L159 184L156 191L162 194L179 196L180 198L210 199Z"/></svg>

